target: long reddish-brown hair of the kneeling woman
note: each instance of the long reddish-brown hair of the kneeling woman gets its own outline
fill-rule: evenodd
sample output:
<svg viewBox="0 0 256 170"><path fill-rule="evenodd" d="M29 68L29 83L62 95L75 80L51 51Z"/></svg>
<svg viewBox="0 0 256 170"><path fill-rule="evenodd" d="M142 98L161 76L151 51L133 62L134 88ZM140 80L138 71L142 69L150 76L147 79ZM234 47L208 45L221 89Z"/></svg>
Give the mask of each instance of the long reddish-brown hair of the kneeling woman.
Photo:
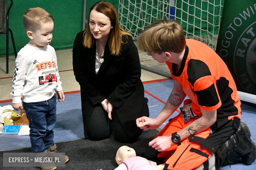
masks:
<svg viewBox="0 0 256 170"><path fill-rule="evenodd" d="M109 33L108 45L109 45L111 54L118 55L121 52L122 36L123 35L132 36L132 35L120 27L118 22L117 9L110 2L99 1L91 7L90 13L93 9L109 17L111 26L113 26L113 28L110 30L110 33ZM84 33L84 46L87 48L92 48L95 42L95 38L90 32L89 24L90 24L90 15L87 22L87 29Z"/></svg>

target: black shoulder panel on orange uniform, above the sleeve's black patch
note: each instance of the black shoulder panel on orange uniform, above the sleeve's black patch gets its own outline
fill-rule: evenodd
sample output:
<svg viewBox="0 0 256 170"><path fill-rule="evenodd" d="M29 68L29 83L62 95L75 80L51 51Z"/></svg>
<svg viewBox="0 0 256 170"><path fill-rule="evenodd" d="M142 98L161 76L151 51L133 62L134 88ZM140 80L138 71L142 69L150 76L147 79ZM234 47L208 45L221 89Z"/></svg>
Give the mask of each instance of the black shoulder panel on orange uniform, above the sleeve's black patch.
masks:
<svg viewBox="0 0 256 170"><path fill-rule="evenodd" d="M208 66L200 60L190 59L187 64L188 81L194 86L197 79L203 76L210 76L211 72Z"/></svg>

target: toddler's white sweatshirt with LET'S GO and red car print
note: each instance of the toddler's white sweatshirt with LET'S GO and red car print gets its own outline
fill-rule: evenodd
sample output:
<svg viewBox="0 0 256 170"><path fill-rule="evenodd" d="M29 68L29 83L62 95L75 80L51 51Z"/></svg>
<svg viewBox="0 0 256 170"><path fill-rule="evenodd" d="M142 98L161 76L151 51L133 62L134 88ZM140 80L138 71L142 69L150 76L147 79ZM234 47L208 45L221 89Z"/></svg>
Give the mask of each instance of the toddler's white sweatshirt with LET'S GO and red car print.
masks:
<svg viewBox="0 0 256 170"><path fill-rule="evenodd" d="M12 80L12 103L49 100L62 91L57 57L51 45L33 47L25 45L17 55Z"/></svg>

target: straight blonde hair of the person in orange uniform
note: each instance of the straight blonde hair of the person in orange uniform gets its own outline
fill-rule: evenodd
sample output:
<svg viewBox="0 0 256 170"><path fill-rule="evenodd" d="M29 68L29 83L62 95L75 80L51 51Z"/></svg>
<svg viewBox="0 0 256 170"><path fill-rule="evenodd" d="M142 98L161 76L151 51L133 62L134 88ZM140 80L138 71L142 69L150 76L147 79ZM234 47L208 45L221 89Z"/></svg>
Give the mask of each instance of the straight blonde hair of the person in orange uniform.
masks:
<svg viewBox="0 0 256 170"><path fill-rule="evenodd" d="M140 50L158 54L181 53L186 46L184 30L176 20L158 20L139 34L137 43Z"/></svg>

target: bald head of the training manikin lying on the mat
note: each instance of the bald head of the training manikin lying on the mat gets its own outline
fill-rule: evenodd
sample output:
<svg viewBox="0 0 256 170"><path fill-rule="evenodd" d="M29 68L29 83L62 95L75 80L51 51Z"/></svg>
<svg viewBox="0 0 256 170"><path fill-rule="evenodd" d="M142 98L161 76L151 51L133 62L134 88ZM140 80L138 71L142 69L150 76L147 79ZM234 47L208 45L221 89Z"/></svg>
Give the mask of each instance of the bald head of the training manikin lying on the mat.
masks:
<svg viewBox="0 0 256 170"><path fill-rule="evenodd" d="M123 161L130 157L136 156L136 152L133 148L123 145L117 150L116 161L120 165Z"/></svg>

